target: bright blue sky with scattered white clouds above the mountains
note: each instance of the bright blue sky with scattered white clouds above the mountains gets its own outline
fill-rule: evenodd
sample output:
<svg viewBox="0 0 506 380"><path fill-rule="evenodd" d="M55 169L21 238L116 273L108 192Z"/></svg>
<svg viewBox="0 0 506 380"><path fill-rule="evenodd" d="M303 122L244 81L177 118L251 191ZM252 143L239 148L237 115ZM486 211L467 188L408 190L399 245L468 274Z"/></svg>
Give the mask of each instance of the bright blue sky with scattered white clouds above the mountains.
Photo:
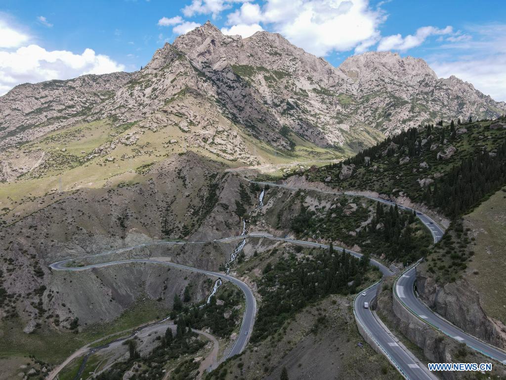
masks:
<svg viewBox="0 0 506 380"><path fill-rule="evenodd" d="M110 0L0 4L0 94L23 82L133 71L210 20L243 37L276 31L332 65L369 50L424 58L506 100L506 2Z"/></svg>

